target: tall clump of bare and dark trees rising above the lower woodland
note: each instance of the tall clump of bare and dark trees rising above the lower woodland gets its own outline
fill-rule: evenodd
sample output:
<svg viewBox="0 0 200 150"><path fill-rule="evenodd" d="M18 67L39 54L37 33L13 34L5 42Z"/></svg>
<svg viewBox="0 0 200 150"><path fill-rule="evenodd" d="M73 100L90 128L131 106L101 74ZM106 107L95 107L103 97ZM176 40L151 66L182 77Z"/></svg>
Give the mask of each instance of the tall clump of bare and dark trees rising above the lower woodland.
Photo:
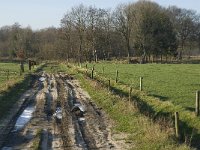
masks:
<svg viewBox="0 0 200 150"><path fill-rule="evenodd" d="M110 56L141 56L143 62L147 56L175 55L178 46L168 11L149 1L120 5L113 12L80 5L66 13L61 23L66 47L77 50L80 62L84 57Z"/></svg>

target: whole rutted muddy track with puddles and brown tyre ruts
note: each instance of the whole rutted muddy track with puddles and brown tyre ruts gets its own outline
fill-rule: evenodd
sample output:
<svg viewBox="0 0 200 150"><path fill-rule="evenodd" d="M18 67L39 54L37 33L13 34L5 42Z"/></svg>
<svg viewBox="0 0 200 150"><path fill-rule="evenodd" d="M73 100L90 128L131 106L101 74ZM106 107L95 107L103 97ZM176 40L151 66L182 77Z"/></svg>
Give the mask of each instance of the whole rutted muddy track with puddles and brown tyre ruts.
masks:
<svg viewBox="0 0 200 150"><path fill-rule="evenodd" d="M125 149L113 140L109 119L77 80L66 74L41 76L44 80L37 82L34 97L29 97L28 105L35 108L31 120L23 129L13 131L13 127L5 133L2 149L34 149L37 144L44 150Z"/></svg>

